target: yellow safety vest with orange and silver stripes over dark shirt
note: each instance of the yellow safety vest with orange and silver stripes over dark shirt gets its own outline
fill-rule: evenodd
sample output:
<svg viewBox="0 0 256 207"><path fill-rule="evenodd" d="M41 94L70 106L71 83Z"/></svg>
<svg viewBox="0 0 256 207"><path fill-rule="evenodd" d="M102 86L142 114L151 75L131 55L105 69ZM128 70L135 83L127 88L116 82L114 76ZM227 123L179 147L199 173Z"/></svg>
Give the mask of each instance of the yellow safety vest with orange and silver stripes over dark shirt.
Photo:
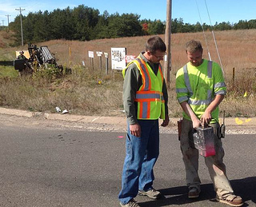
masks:
<svg viewBox="0 0 256 207"><path fill-rule="evenodd" d="M158 74L155 75L150 65L142 58L134 59L130 64L136 64L140 74L142 75L142 86L136 92L134 102L138 102L138 119L158 119L159 117L165 119L165 100L162 94L162 66L159 64ZM126 75L126 70L122 70L123 78Z"/></svg>

